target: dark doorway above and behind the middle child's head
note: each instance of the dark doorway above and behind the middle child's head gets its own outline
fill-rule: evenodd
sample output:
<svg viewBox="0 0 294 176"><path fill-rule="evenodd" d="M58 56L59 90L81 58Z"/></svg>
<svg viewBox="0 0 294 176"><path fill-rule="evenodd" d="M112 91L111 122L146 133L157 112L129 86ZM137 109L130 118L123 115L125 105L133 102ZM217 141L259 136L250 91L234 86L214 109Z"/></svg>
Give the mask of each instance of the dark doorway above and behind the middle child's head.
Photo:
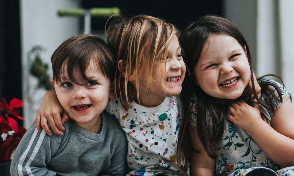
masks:
<svg viewBox="0 0 294 176"><path fill-rule="evenodd" d="M133 16L137 14L151 15L166 19L168 22L178 26L181 30L191 21L206 14L222 16L222 0L208 1L161 1L161 0L137 0L137 1L96 1L83 0L82 7L90 9L93 7L118 7L121 14ZM103 30L105 23L99 18L92 18L91 28L93 31Z"/></svg>

